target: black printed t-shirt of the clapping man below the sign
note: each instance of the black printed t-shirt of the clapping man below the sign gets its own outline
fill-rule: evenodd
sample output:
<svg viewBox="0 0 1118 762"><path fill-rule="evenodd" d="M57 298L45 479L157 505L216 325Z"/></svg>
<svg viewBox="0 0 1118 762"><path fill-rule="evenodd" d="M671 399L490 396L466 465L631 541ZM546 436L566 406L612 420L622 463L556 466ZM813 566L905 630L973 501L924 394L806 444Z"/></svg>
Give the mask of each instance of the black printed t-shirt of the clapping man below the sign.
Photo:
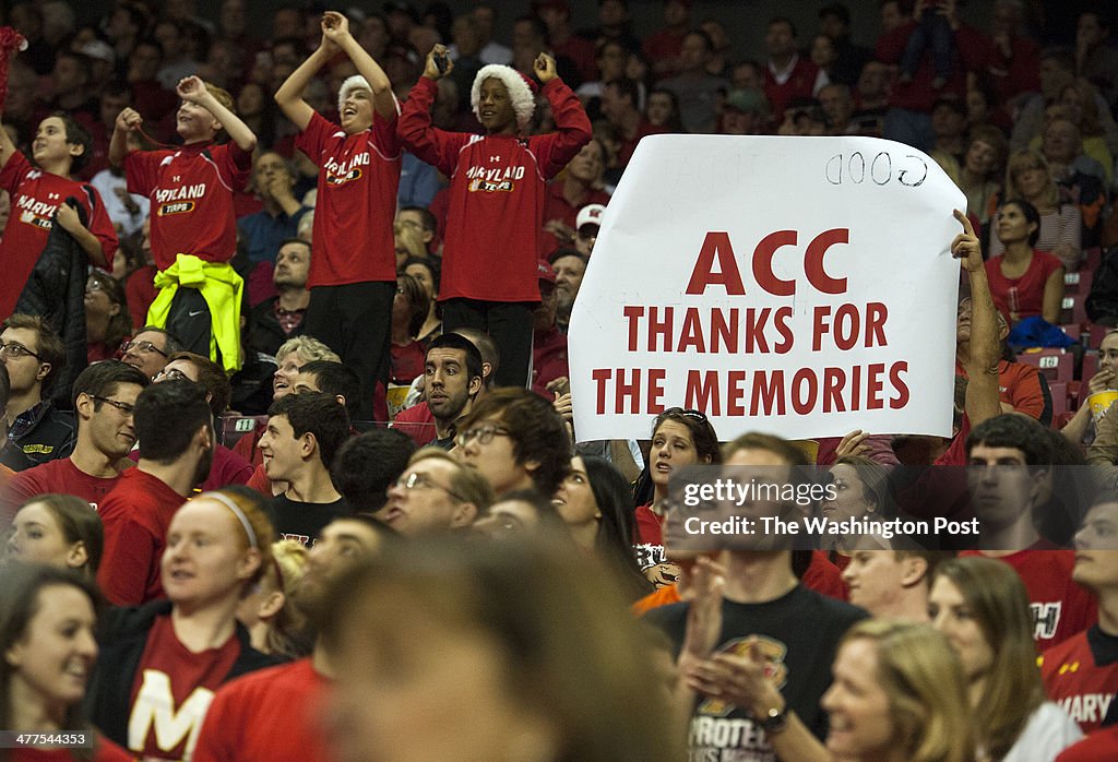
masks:
<svg viewBox="0 0 1118 762"><path fill-rule="evenodd" d="M683 644L688 606L675 603L645 615L667 632L676 651ZM756 635L776 671L788 708L822 740L827 733L827 717L819 701L831 685L831 664L839 641L851 625L865 617L862 609L803 585L765 603L723 601L722 634L716 650L743 648L749 636ZM703 762L776 760L765 731L743 709L713 699L699 699L688 744L691 759Z"/></svg>

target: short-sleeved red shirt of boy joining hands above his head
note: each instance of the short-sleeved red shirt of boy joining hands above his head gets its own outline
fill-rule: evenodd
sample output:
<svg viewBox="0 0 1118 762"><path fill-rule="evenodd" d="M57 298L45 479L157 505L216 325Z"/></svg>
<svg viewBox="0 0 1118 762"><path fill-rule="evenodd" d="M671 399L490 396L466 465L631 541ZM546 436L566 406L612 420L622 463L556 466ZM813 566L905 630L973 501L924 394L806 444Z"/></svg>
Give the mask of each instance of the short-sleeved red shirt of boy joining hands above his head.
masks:
<svg viewBox="0 0 1118 762"><path fill-rule="evenodd" d="M392 219L401 163L396 118L375 113L371 128L347 135L315 113L295 146L320 168L306 285L396 283Z"/></svg>

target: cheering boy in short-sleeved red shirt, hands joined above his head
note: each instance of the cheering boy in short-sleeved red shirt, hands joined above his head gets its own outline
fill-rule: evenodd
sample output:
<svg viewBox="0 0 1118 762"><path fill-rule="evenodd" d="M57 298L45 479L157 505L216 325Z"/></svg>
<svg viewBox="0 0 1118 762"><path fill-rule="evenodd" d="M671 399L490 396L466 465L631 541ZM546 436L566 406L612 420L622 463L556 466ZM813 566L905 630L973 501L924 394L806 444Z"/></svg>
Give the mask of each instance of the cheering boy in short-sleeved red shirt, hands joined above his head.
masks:
<svg viewBox="0 0 1118 762"><path fill-rule="evenodd" d="M316 113L302 93L335 55L359 72L338 93L341 124ZM383 69L353 38L344 16L322 16L322 44L276 91L276 103L302 132L295 145L321 168L305 333L338 352L361 379L354 417L372 418L377 382L387 385L400 183L399 107Z"/></svg>

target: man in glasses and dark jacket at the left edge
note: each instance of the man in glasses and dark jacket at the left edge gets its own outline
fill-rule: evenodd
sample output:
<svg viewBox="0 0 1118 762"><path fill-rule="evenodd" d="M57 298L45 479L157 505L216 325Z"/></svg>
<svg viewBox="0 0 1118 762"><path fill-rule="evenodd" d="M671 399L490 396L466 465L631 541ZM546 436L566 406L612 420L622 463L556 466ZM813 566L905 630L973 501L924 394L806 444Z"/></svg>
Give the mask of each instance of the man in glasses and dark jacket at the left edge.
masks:
<svg viewBox="0 0 1118 762"><path fill-rule="evenodd" d="M0 362L8 369L8 440L30 465L65 458L74 450L74 423L50 402L66 349L38 315L16 314L3 322Z"/></svg>

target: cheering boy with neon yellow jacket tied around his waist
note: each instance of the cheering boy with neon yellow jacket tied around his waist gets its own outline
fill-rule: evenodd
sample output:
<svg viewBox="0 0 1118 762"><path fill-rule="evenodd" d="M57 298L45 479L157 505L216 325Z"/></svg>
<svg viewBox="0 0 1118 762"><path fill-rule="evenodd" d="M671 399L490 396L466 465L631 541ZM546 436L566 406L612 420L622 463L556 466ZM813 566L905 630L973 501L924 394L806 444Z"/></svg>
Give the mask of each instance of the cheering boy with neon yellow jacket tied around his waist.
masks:
<svg viewBox="0 0 1118 762"><path fill-rule="evenodd" d="M237 249L233 194L248 183L256 135L233 113L233 98L220 87L186 77L176 92L182 98L176 120L182 146L130 147L129 133L140 130L143 118L125 108L116 117L108 161L123 164L129 192L151 199L159 293L148 324L234 371L240 368L244 282L229 265ZM231 140L216 145L222 130Z"/></svg>

